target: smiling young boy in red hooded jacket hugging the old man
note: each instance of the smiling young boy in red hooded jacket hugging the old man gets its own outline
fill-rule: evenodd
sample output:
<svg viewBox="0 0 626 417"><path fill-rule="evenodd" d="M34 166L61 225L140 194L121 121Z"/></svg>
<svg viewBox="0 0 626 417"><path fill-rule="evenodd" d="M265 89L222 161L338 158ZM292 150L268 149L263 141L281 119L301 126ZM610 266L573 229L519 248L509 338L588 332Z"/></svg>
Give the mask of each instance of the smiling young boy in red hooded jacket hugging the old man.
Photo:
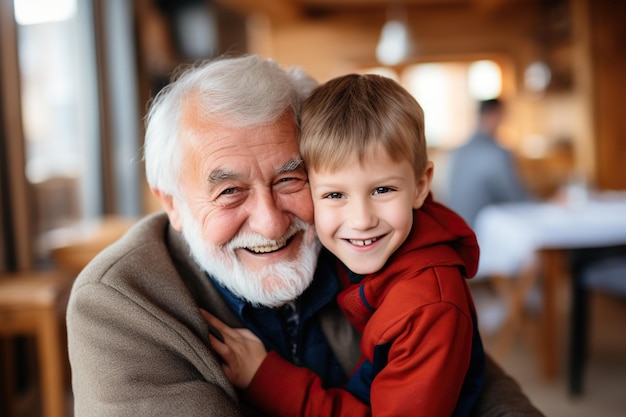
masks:
<svg viewBox="0 0 626 417"><path fill-rule="evenodd" d="M362 335L362 359L342 389L326 389L250 332L220 326L225 344L210 341L226 375L275 417L469 415L484 376L465 282L478 246L430 195L421 107L388 78L333 79L304 104L300 152L318 237L341 261L337 300Z"/></svg>

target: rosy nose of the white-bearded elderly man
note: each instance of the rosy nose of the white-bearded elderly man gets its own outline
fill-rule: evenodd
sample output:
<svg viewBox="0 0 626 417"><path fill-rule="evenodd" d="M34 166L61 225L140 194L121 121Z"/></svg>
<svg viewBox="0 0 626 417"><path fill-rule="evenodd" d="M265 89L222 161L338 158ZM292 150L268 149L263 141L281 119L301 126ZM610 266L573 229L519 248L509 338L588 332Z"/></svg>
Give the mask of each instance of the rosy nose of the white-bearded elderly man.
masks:
<svg viewBox="0 0 626 417"><path fill-rule="evenodd" d="M271 191L257 193L249 210L250 231L268 239L283 237L291 223L290 216Z"/></svg>

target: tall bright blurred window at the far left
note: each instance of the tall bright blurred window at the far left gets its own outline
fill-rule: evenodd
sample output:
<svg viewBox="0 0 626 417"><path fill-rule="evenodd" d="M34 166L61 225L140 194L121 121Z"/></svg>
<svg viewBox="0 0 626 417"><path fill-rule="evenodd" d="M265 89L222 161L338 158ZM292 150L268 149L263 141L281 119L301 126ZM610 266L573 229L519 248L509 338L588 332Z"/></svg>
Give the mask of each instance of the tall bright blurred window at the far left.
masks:
<svg viewBox="0 0 626 417"><path fill-rule="evenodd" d="M100 207L99 124L90 2L14 0L26 178L35 233Z"/></svg>

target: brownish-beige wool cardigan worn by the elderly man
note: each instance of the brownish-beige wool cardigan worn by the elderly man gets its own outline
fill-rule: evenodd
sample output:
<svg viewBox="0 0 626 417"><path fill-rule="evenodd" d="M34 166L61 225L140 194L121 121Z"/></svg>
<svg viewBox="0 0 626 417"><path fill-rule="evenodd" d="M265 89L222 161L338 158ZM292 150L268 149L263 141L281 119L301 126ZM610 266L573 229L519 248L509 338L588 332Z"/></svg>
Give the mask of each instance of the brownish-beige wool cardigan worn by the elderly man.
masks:
<svg viewBox="0 0 626 417"><path fill-rule="evenodd" d="M77 278L67 312L75 416L255 415L210 350L199 307L241 326L165 214L100 253ZM358 336L335 305L320 319L352 369ZM476 415L541 415L491 360L487 378Z"/></svg>

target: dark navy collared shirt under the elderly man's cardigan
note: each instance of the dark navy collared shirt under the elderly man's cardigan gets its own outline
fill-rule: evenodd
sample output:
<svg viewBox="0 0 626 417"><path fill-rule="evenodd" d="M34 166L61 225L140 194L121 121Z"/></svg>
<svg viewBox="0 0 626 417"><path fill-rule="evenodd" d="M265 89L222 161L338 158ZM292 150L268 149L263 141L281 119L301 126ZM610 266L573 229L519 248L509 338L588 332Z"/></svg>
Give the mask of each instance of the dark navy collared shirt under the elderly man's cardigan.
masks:
<svg viewBox="0 0 626 417"><path fill-rule="evenodd" d="M313 282L295 300L298 314L295 333L290 332L282 309L254 307L211 277L228 307L263 341L268 351L273 350L289 362L309 368L322 379L326 388L340 387L347 380L316 317L324 306L334 302L339 290L333 263L332 256L322 249ZM295 334L295 340L291 334Z"/></svg>

